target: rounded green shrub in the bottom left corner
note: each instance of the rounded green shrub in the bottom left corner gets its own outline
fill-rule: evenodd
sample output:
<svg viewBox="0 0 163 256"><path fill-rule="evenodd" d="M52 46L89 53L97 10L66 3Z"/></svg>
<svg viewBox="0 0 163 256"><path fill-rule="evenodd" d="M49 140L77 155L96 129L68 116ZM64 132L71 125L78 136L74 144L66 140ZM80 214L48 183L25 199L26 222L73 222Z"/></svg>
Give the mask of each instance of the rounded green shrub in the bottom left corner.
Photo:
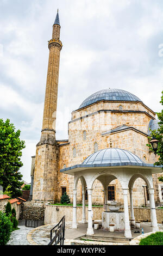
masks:
<svg viewBox="0 0 163 256"><path fill-rule="evenodd" d="M12 222L10 218L0 211L0 245L6 245L10 240Z"/></svg>

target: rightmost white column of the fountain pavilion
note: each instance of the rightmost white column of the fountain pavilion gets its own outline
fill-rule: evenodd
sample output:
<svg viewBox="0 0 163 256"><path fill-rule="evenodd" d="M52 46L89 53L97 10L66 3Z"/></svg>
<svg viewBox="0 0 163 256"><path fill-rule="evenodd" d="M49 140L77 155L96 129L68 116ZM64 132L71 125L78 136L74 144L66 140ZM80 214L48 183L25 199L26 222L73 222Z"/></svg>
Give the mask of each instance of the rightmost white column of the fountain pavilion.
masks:
<svg viewBox="0 0 163 256"><path fill-rule="evenodd" d="M151 225L153 227L153 231L158 231L158 221L156 218L156 210L155 210L155 202L154 202L154 188L148 188L149 192L149 202L151 208Z"/></svg>

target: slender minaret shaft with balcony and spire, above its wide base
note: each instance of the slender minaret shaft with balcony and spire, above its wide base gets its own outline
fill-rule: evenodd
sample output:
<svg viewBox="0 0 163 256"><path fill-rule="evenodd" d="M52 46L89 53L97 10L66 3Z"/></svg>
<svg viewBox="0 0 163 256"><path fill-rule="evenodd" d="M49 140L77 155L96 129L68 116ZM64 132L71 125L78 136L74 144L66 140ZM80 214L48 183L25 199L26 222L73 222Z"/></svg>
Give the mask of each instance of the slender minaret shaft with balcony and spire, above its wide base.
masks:
<svg viewBox="0 0 163 256"><path fill-rule="evenodd" d="M59 62L62 43L60 41L60 22L57 13L52 39L48 42L49 63L47 72L45 105L43 112L42 135L39 144L54 144L55 121L57 113Z"/></svg>

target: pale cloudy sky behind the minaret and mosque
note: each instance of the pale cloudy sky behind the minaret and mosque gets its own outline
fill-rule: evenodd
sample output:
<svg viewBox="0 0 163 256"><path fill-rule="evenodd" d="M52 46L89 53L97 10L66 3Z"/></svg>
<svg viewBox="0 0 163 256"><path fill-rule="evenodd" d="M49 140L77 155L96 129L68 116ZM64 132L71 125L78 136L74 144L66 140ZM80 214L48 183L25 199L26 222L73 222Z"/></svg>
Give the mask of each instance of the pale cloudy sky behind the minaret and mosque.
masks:
<svg viewBox="0 0 163 256"><path fill-rule="evenodd" d="M26 141L21 172L27 182L41 135L47 43L58 8L64 47L57 139L68 138L71 112L101 89L127 90L161 111L162 0L0 0L0 118L9 118Z"/></svg>

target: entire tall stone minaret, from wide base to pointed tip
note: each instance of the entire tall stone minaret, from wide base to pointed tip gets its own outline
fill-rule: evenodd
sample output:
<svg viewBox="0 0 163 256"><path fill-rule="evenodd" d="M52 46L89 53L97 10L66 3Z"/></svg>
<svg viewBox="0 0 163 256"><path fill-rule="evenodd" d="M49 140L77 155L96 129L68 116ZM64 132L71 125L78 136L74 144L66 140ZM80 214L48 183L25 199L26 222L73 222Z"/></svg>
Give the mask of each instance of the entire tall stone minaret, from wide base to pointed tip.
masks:
<svg viewBox="0 0 163 256"><path fill-rule="evenodd" d="M58 145L55 123L58 97L59 62L62 43L57 13L52 39L48 41L49 62L40 142L36 145L33 200L55 202L58 197Z"/></svg>

